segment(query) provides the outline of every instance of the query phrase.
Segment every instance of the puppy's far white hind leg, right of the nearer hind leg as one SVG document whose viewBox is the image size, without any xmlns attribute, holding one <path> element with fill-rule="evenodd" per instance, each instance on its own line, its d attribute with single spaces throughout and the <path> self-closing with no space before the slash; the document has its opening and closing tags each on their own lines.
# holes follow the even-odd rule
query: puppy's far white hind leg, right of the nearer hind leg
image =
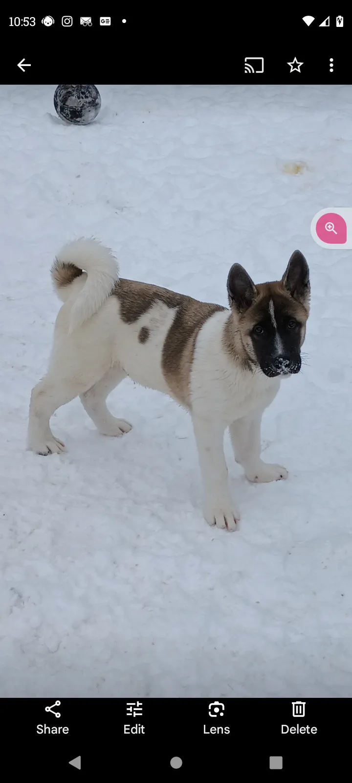
<svg viewBox="0 0 352 783">
<path fill-rule="evenodd" d="M 120 435 L 124 435 L 124 432 L 131 430 L 131 424 L 128 424 L 128 421 L 117 419 L 106 407 L 106 397 L 125 377 L 126 373 L 122 367 L 115 364 L 110 370 L 107 370 L 100 381 L 80 395 L 84 410 L 102 435 L 113 435 L 115 438 L 119 438 Z"/>
</svg>

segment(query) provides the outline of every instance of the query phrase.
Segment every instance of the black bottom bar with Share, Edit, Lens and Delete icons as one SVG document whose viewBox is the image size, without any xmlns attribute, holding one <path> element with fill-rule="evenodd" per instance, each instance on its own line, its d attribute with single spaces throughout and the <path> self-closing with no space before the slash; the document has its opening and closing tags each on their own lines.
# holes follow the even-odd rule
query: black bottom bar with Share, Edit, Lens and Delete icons
<svg viewBox="0 0 352 783">
<path fill-rule="evenodd" d="M 117 774 L 128 765 L 134 774 L 150 771 L 166 780 L 174 770 L 180 776 L 222 774 L 234 752 L 237 773 L 275 769 L 300 775 L 324 768 L 325 774 L 336 774 L 348 756 L 347 702 L 221 696 L 6 699 L 4 740 L 7 746 L 12 742 L 20 712 L 23 752 L 16 769 L 37 776 L 54 759 L 58 776 L 69 767 L 88 777 L 112 768 Z"/>
</svg>

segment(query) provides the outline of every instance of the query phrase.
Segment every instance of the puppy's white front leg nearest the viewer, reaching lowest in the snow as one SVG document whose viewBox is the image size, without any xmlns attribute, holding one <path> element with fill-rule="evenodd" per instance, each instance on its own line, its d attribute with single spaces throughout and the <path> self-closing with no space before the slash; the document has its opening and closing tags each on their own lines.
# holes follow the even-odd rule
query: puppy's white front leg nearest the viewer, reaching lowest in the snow
<svg viewBox="0 0 352 783">
<path fill-rule="evenodd" d="M 236 529 L 239 512 L 228 492 L 228 468 L 224 458 L 225 427 L 210 419 L 192 417 L 203 478 L 203 513 L 209 525 Z"/>
</svg>

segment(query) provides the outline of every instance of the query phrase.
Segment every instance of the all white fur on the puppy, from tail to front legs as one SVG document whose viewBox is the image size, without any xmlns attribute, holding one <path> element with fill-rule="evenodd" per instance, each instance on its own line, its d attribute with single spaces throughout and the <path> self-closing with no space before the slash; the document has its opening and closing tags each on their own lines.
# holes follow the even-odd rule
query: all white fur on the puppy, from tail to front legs
<svg viewBox="0 0 352 783">
<path fill-rule="evenodd" d="M 75 244 L 74 258 L 87 270 L 88 278 L 81 276 L 66 289 L 66 301 L 56 319 L 48 373 L 31 395 L 28 447 L 37 453 L 63 450 L 63 443 L 52 435 L 49 420 L 59 406 L 77 395 L 99 431 L 114 436 L 131 429 L 131 424 L 116 419 L 106 408 L 107 395 L 124 377 L 171 395 L 163 377 L 162 351 L 176 309 L 157 301 L 135 323 L 124 323 L 117 297 L 107 293 L 116 280 L 117 264 L 110 251 L 92 240 L 84 242 L 87 240 Z M 60 260 L 73 263 L 72 251 L 72 245 L 66 247 Z M 98 294 L 89 279 L 100 280 Z M 235 458 L 250 481 L 275 481 L 286 478 L 287 471 L 260 460 L 260 419 L 275 398 L 280 379 L 268 378 L 260 370 L 242 370 L 224 351 L 228 314 L 228 310 L 216 312 L 199 331 L 190 398 L 203 476 L 204 516 L 210 525 L 235 530 L 239 512 L 228 492 L 225 429 L 230 427 Z M 77 324 L 74 329 L 73 323 Z M 138 341 L 142 327 L 150 332 L 145 344 Z"/>
</svg>

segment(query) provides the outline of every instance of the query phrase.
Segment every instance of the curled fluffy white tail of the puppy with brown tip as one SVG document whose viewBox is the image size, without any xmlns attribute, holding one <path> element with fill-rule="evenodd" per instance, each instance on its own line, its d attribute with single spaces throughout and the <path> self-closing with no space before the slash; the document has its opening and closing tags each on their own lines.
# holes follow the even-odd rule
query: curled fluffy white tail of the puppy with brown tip
<svg viewBox="0 0 352 783">
<path fill-rule="evenodd" d="M 59 298 L 66 301 L 70 284 L 83 272 L 85 283 L 72 305 L 70 332 L 94 316 L 113 293 L 119 265 L 113 253 L 97 240 L 77 240 L 63 247 L 52 265 L 52 282 Z"/>
</svg>

